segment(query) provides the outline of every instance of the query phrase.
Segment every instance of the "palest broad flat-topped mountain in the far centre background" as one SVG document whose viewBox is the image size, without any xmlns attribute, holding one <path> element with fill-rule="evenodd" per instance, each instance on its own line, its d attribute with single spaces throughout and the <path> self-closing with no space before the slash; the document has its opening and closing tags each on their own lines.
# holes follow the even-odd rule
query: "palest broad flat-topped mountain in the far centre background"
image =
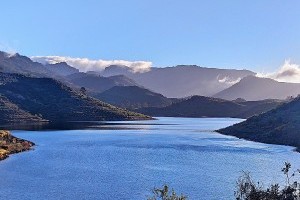
<svg viewBox="0 0 300 200">
<path fill-rule="evenodd" d="M 151 91 L 166 97 L 182 98 L 192 95 L 211 96 L 239 81 L 254 75 L 248 70 L 204 68 L 195 65 L 151 68 L 150 71 L 134 73 L 126 66 L 109 66 L 103 76 L 125 75 Z"/>
</svg>

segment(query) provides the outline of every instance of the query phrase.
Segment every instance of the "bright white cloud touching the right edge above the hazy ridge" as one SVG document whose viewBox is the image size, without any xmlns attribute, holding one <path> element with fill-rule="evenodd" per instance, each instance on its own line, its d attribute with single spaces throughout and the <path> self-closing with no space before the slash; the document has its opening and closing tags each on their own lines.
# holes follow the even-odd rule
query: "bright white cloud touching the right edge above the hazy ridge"
<svg viewBox="0 0 300 200">
<path fill-rule="evenodd" d="M 281 82 L 300 83 L 300 65 L 285 60 L 284 64 L 275 72 L 258 73 L 258 77 L 272 78 Z"/>
</svg>

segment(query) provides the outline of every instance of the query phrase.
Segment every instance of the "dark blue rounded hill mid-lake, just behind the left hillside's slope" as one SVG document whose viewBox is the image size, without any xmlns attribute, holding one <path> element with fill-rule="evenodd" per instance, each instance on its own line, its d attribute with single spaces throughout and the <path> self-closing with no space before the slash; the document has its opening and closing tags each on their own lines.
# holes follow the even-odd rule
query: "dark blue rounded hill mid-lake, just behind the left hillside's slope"
<svg viewBox="0 0 300 200">
<path fill-rule="evenodd" d="M 142 107 L 164 107 L 173 102 L 172 99 L 138 86 L 115 86 L 95 97 L 131 110 Z"/>
</svg>

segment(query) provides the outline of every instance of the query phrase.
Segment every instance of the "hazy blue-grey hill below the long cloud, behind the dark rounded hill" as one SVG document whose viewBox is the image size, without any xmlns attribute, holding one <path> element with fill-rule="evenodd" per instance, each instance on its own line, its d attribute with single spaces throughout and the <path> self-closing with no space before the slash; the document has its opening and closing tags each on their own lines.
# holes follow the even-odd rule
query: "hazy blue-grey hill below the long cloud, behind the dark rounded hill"
<svg viewBox="0 0 300 200">
<path fill-rule="evenodd" d="M 76 73 L 66 77 L 74 85 L 85 87 L 92 92 L 103 92 L 114 86 L 133 86 L 136 83 L 124 75 L 103 77 L 91 73 Z"/>
</svg>

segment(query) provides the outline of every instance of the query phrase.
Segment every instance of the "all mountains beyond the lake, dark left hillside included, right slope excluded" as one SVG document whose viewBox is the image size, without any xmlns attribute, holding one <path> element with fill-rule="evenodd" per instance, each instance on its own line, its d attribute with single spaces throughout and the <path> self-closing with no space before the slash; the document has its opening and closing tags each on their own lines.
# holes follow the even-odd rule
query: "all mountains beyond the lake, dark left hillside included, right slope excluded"
<svg viewBox="0 0 300 200">
<path fill-rule="evenodd" d="M 273 99 L 300 91 L 300 84 L 258 78 L 248 70 L 179 65 L 135 73 L 113 65 L 102 72 L 84 73 L 65 62 L 40 64 L 5 52 L 0 52 L 0 72 L 0 109 L 10 116 L 7 121 L 147 118 L 131 111 L 152 116 L 248 118 L 282 103 Z"/>
</svg>

